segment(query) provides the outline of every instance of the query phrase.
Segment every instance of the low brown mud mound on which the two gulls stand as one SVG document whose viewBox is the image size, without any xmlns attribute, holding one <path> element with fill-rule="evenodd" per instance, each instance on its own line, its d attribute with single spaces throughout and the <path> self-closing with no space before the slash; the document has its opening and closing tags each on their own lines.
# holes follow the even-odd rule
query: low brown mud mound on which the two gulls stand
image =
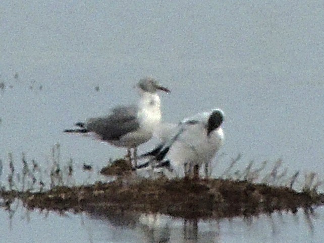
<svg viewBox="0 0 324 243">
<path fill-rule="evenodd" d="M 6 198 L 6 192 L 3 192 Z M 8 192 L 8 195 L 10 193 Z M 13 196 L 13 194 L 11 194 Z M 117 179 L 81 187 L 55 187 L 47 192 L 21 192 L 29 209 L 74 212 L 136 211 L 183 218 L 250 216 L 274 211 L 297 212 L 324 204 L 324 195 L 286 187 L 231 179 L 130 181 Z"/>
</svg>

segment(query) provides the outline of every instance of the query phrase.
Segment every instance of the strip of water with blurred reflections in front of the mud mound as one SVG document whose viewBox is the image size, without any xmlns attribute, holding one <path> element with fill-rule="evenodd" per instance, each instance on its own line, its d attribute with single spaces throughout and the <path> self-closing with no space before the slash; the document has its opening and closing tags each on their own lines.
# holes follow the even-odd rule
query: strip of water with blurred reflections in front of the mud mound
<svg viewBox="0 0 324 243">
<path fill-rule="evenodd" d="M 37 228 L 37 234 L 33 237 L 42 238 L 42 234 L 47 235 L 48 232 L 66 235 L 67 228 L 73 225 L 74 231 L 70 233 L 73 238 L 71 242 L 78 243 L 98 241 L 286 242 L 294 241 L 296 238 L 299 241 L 320 242 L 318 239 L 323 236 L 321 229 L 323 220 L 318 215 L 324 213 L 324 207 L 315 211 L 299 210 L 296 214 L 276 212 L 245 218 L 203 220 L 175 218 L 164 214 L 116 211 L 108 208 L 104 214 L 102 209 L 96 211 L 95 208 L 91 212 L 75 215 L 68 212 L 51 213 L 47 210 L 38 213 L 21 206 L 22 203 L 18 200 L 12 204 L 1 202 L 3 218 L 6 218 L 4 213 L 7 212 L 8 220 L 3 220 L 0 230 L 7 228 L 8 234 L 15 235 L 26 230 L 26 227 Z M 75 220 L 78 218 L 81 219 L 81 227 L 80 220 Z M 57 223 L 51 224 L 53 221 Z M 80 236 L 82 236 L 81 241 L 78 240 Z M 55 238 L 49 240 L 55 241 Z"/>
</svg>

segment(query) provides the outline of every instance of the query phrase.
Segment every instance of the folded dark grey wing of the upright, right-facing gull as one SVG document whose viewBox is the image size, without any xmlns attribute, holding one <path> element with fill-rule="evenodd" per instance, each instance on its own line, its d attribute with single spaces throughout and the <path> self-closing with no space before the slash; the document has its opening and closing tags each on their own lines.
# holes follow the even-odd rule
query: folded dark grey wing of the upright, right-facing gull
<svg viewBox="0 0 324 243">
<path fill-rule="evenodd" d="M 118 140 L 139 128 L 137 110 L 135 105 L 118 106 L 107 116 L 90 118 L 86 124 L 87 130 L 98 134 L 102 140 Z"/>
</svg>

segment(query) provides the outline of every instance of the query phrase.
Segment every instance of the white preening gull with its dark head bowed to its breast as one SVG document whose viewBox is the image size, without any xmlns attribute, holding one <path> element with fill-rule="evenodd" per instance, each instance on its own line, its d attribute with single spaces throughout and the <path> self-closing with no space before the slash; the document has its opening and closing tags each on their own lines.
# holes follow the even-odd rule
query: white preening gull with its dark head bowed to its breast
<svg viewBox="0 0 324 243">
<path fill-rule="evenodd" d="M 148 165 L 153 168 L 168 167 L 176 170 L 177 175 L 197 178 L 203 164 L 205 176 L 208 177 L 211 160 L 224 141 L 223 120 L 221 109 L 212 109 L 182 120 L 168 140 L 140 156 L 151 159 L 137 166 L 137 169 Z"/>
</svg>

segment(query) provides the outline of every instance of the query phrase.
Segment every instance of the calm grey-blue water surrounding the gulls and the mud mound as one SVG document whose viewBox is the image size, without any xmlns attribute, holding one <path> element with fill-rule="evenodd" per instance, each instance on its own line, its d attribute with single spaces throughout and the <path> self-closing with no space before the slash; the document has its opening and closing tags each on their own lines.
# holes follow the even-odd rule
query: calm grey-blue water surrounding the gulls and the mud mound
<svg viewBox="0 0 324 243">
<path fill-rule="evenodd" d="M 166 121 L 213 107 L 225 111 L 226 143 L 215 176 L 242 153 L 235 169 L 251 160 L 257 166 L 281 158 L 291 173 L 316 171 L 322 178 L 322 10 L 319 3 L 306 1 L 2 3 L 0 158 L 8 161 L 12 152 L 19 167 L 25 152 L 27 159 L 48 169 L 50 150 L 60 143 L 62 162 L 72 158 L 75 166 L 89 163 L 98 170 L 125 150 L 62 131 L 75 121 L 136 101 L 133 86 L 152 75 L 172 90 L 161 95 Z M 75 176 L 80 183 L 88 179 L 82 173 Z M 322 209 L 317 213 L 322 215 Z M 7 212 L 1 214 L 8 218 Z M 105 218 L 67 215 L 50 212 L 46 218 L 32 212 L 28 222 L 19 208 L 12 230 L 9 219 L 0 228 L 7 242 L 151 237 L 138 220 L 120 227 Z M 164 220 L 170 238 L 183 239 L 183 220 Z M 315 218 L 310 230 L 302 213 L 209 223 L 198 222 L 202 242 L 209 237 L 216 242 L 318 242 L 324 236 L 316 230 L 323 220 Z"/>
</svg>

